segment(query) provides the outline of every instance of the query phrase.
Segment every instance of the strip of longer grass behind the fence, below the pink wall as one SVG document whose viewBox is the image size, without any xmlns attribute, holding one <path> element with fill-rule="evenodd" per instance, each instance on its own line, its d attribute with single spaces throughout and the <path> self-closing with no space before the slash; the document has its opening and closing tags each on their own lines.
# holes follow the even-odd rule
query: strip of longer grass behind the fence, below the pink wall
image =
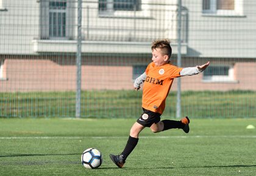
<svg viewBox="0 0 256 176">
<path fill-rule="evenodd" d="M 81 117 L 130 118 L 141 114 L 142 91 L 101 90 L 81 93 Z M 170 92 L 163 117 L 176 117 L 176 92 Z M 256 92 L 182 92 L 182 116 L 255 117 Z M 75 92 L 0 93 L 0 117 L 74 117 Z"/>
</svg>

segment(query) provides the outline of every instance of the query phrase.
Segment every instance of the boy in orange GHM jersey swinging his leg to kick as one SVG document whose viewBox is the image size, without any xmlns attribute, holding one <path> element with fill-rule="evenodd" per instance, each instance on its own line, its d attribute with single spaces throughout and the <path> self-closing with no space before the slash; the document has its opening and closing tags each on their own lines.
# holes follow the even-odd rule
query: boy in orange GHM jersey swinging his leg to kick
<svg viewBox="0 0 256 176">
<path fill-rule="evenodd" d="M 142 97 L 143 114 L 130 129 L 130 136 L 124 151 L 120 155 L 110 154 L 111 160 L 119 168 L 123 168 L 126 158 L 138 143 L 138 135 L 145 127 L 150 127 L 154 133 L 173 128 L 183 129 L 185 133 L 190 131 L 188 126 L 190 120 L 188 117 L 184 117 L 180 121 L 160 121 L 160 116 L 165 109 L 165 100 L 174 78 L 201 73 L 210 63 L 187 68 L 173 66 L 169 62 L 172 53 L 169 43 L 167 39 L 152 42 L 152 63 L 148 65 L 146 71 L 133 84 L 134 89 L 139 90 L 140 84 L 144 83 Z"/>
</svg>

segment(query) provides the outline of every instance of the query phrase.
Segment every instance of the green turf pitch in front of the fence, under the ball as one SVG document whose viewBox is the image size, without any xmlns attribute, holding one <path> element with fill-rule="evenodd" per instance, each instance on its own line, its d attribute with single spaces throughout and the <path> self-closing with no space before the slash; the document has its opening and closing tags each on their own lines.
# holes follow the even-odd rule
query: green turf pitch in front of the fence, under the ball
<svg viewBox="0 0 256 176">
<path fill-rule="evenodd" d="M 108 154 L 123 151 L 134 119 L 0 119 L 1 175 L 255 175 L 254 119 L 191 119 L 189 134 L 172 129 L 141 132 L 119 169 Z M 80 155 L 96 147 L 99 169 Z"/>
</svg>

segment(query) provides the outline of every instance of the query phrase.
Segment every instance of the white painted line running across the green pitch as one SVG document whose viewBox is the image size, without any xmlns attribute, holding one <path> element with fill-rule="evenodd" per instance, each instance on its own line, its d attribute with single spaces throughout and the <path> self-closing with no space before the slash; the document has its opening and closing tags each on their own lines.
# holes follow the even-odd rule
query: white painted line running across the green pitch
<svg viewBox="0 0 256 176">
<path fill-rule="evenodd" d="M 34 140 L 48 140 L 48 139 L 121 139 L 127 137 L 0 137 L 0 140 L 24 140 L 24 139 L 34 139 Z M 139 138 L 256 138 L 256 135 L 194 135 L 194 136 L 141 136 Z"/>
</svg>

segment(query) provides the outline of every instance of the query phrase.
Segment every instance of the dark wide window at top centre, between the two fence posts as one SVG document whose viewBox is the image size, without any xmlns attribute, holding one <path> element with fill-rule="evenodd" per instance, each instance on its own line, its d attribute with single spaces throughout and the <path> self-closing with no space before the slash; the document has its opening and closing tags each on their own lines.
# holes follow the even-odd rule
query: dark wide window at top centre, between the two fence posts
<svg viewBox="0 0 256 176">
<path fill-rule="evenodd" d="M 141 10 L 139 0 L 99 0 L 99 13 L 111 14 L 117 10 L 138 11 Z"/>
</svg>

